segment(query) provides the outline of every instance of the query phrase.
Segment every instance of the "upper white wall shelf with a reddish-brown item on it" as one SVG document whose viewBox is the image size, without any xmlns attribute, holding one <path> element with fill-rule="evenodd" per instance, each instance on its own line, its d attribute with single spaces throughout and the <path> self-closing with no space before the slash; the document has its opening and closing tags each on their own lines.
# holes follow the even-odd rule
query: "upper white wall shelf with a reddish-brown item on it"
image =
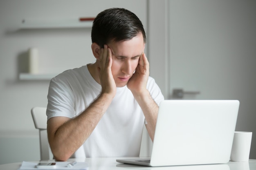
<svg viewBox="0 0 256 170">
<path fill-rule="evenodd" d="M 94 18 L 51 19 L 51 20 L 24 19 L 22 20 L 22 23 L 20 24 L 19 29 L 91 28 L 93 19 Z"/>
</svg>

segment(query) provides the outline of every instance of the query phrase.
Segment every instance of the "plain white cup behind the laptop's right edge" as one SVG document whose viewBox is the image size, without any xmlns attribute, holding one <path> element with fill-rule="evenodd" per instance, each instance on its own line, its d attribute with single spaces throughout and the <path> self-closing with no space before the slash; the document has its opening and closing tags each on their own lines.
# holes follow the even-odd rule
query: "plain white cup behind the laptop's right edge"
<svg viewBox="0 0 256 170">
<path fill-rule="evenodd" d="M 235 162 L 249 161 L 252 132 L 235 132 L 230 160 Z"/>
</svg>

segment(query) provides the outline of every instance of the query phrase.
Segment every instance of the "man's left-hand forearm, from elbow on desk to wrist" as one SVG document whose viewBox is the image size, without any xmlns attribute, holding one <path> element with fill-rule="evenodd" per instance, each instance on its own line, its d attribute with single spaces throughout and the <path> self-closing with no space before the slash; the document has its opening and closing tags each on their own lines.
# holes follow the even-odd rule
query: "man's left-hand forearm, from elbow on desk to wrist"
<svg viewBox="0 0 256 170">
<path fill-rule="evenodd" d="M 90 136 L 106 112 L 112 97 L 101 94 L 86 110 L 53 130 L 48 130 L 49 144 L 54 157 L 66 161 Z M 51 119 L 49 119 L 50 121 Z M 49 134 L 50 133 L 50 134 Z"/>
</svg>

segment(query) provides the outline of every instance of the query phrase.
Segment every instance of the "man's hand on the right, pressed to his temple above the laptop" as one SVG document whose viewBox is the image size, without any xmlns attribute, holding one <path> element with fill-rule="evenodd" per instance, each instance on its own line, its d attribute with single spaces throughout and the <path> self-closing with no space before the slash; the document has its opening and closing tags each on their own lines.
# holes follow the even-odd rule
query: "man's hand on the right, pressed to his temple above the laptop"
<svg viewBox="0 0 256 170">
<path fill-rule="evenodd" d="M 149 62 L 144 53 L 139 57 L 139 63 L 135 73 L 130 78 L 127 87 L 133 95 L 139 95 L 146 90 L 149 76 Z"/>
</svg>

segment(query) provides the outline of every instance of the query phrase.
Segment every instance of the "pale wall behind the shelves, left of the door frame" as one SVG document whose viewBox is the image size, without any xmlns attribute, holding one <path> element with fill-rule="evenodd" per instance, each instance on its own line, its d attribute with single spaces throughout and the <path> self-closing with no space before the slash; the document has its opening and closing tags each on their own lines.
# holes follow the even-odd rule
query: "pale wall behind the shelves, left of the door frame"
<svg viewBox="0 0 256 170">
<path fill-rule="evenodd" d="M 147 25 L 146 0 L 0 0 L 0 164 L 40 159 L 30 110 L 47 106 L 49 80 L 18 79 L 27 70 L 27 50 L 38 48 L 40 73 L 94 62 L 90 29 L 19 30 L 22 20 L 95 17 L 111 7 L 133 11 Z"/>
</svg>

